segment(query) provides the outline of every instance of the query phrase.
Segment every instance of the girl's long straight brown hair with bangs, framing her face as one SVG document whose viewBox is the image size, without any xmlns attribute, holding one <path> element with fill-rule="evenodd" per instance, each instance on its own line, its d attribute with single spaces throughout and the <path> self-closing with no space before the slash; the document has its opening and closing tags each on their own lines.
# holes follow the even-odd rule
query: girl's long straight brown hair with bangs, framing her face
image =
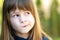
<svg viewBox="0 0 60 40">
<path fill-rule="evenodd" d="M 14 29 L 9 22 L 9 13 L 16 8 L 29 10 L 35 18 L 34 28 L 31 30 L 31 40 L 42 40 L 42 35 L 46 36 L 49 40 L 50 37 L 42 30 L 39 15 L 36 5 L 31 0 L 4 0 L 3 4 L 3 21 L 2 21 L 2 40 L 13 40 Z M 33 35 L 33 36 L 32 36 Z"/>
</svg>

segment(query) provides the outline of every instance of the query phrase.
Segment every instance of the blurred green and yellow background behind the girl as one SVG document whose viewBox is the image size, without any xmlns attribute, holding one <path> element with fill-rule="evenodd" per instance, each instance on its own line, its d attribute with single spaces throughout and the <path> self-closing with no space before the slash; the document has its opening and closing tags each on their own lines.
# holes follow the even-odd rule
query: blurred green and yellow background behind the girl
<svg viewBox="0 0 60 40">
<path fill-rule="evenodd" d="M 34 0 L 38 8 L 43 30 L 53 40 L 60 40 L 60 0 Z M 0 0 L 0 35 L 2 27 L 2 5 Z"/>
</svg>

